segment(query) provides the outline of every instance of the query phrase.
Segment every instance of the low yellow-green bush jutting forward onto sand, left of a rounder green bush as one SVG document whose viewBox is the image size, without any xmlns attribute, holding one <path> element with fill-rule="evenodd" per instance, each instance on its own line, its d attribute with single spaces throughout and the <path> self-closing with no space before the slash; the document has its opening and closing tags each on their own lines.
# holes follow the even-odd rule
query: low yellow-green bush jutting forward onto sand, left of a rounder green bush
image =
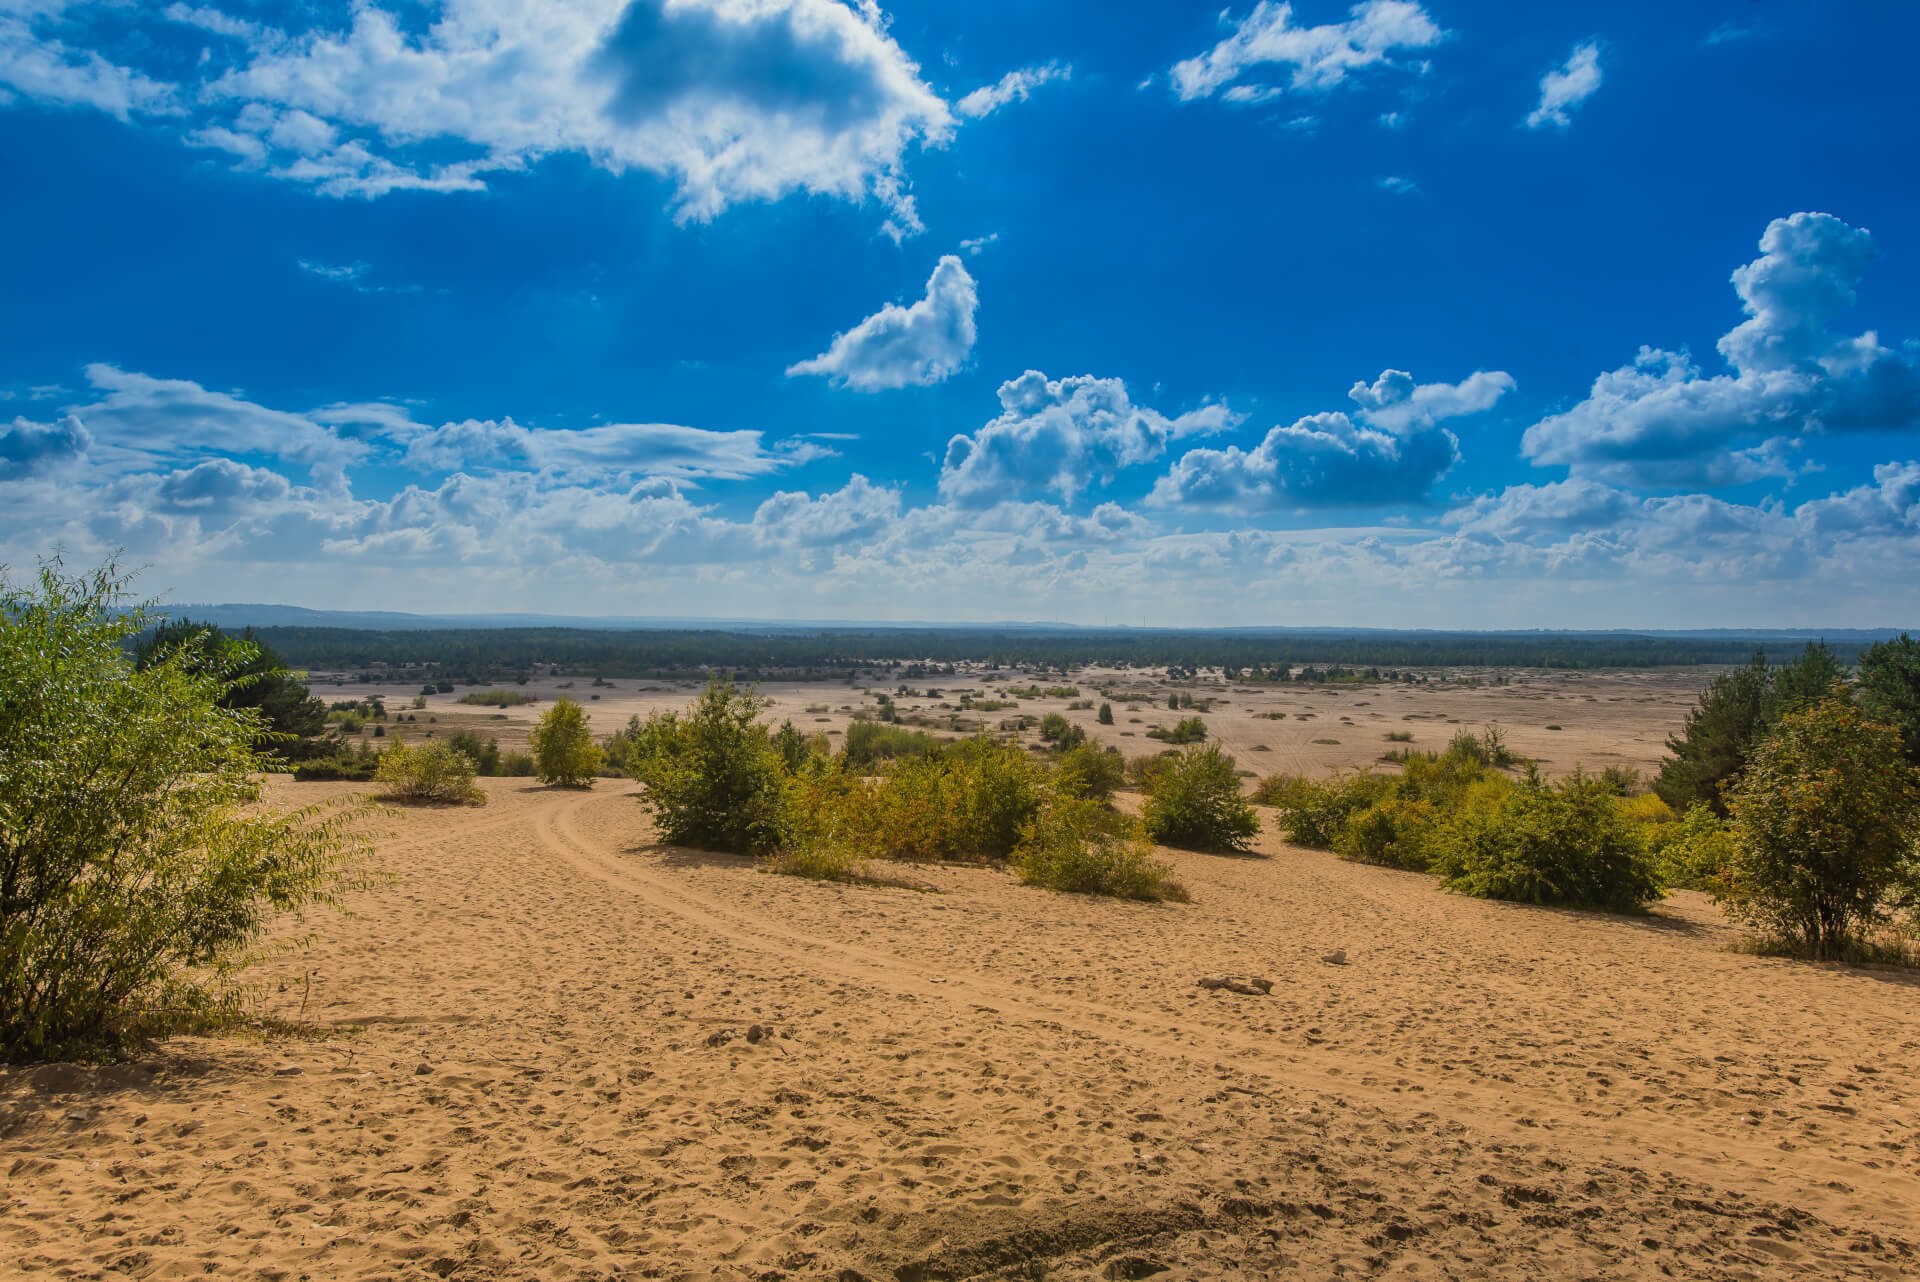
<svg viewBox="0 0 1920 1282">
<path fill-rule="evenodd" d="M 1187 887 L 1173 881 L 1173 866 L 1154 858 L 1140 823 L 1089 798 L 1046 798 L 1020 829 L 1012 864 L 1021 881 L 1050 890 L 1181 904 L 1188 898 Z"/>
</svg>

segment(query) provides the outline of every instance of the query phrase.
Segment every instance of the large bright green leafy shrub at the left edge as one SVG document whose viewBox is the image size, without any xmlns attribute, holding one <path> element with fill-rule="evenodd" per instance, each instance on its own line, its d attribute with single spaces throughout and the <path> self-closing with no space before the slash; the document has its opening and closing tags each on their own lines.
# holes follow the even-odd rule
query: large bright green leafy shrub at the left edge
<svg viewBox="0 0 1920 1282">
<path fill-rule="evenodd" d="M 282 912 L 338 904 L 353 806 L 259 806 L 246 641 L 129 656 L 152 624 L 111 564 L 0 578 L 0 1059 L 111 1054 L 236 1013 Z"/>
</svg>

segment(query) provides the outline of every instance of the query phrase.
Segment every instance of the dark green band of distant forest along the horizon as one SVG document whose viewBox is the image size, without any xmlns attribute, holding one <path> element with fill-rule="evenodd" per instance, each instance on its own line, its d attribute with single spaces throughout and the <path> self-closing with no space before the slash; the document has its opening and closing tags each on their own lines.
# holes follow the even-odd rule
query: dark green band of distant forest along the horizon
<svg viewBox="0 0 1920 1282">
<path fill-rule="evenodd" d="M 996 633 L 987 629 L 603 631 L 588 628 L 357 629 L 259 628 L 296 668 L 313 672 L 405 668 L 438 679 L 493 681 L 557 668 L 570 676 L 697 677 L 708 670 L 755 676 L 843 676 L 881 662 L 989 662 L 1069 670 L 1108 664 L 1154 670 L 1227 668 L 1256 676 L 1284 664 L 1369 668 L 1670 668 L 1741 664 L 1751 637 L 1524 635 L 1524 633 Z M 1799 651 L 1776 641 L 1774 658 Z M 1853 660 L 1860 643 L 1837 643 Z"/>
</svg>

